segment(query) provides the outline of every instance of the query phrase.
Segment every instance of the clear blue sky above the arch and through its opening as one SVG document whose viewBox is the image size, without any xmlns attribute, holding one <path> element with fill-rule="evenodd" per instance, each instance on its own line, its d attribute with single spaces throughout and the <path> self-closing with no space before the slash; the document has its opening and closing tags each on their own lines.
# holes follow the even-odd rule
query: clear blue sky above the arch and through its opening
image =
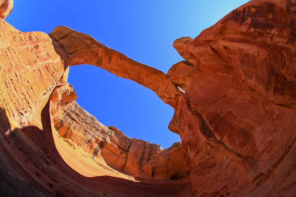
<svg viewBox="0 0 296 197">
<path fill-rule="evenodd" d="M 182 61 L 173 41 L 197 37 L 247 0 L 81 1 L 15 0 L 6 21 L 16 29 L 50 33 L 63 25 L 91 35 L 129 58 L 165 73 Z M 170 147 L 173 109 L 151 90 L 92 65 L 70 67 L 76 100 L 99 122 L 132 138 Z"/>
</svg>

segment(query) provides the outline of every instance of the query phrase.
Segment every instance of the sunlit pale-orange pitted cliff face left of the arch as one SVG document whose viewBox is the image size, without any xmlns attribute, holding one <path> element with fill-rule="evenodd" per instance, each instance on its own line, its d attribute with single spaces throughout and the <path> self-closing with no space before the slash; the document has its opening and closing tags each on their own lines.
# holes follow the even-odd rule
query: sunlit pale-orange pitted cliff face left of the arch
<svg viewBox="0 0 296 197">
<path fill-rule="evenodd" d="M 67 66 L 43 32 L 20 32 L 0 19 L 1 108 L 18 128 L 42 129 L 40 115 Z"/>
</svg>

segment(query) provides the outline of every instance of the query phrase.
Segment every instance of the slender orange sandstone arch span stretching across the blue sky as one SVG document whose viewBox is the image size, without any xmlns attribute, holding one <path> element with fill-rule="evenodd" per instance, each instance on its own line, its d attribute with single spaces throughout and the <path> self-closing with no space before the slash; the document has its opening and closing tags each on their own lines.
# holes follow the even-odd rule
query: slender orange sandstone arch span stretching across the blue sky
<svg viewBox="0 0 296 197">
<path fill-rule="evenodd" d="M 92 64 L 116 76 L 131 79 L 154 91 L 163 102 L 174 108 L 175 94 L 181 93 L 169 77 L 155 68 L 134 61 L 122 53 L 106 47 L 93 37 L 68 27 L 58 26 L 49 34 L 59 43 L 61 56 L 68 66 Z"/>
</svg>

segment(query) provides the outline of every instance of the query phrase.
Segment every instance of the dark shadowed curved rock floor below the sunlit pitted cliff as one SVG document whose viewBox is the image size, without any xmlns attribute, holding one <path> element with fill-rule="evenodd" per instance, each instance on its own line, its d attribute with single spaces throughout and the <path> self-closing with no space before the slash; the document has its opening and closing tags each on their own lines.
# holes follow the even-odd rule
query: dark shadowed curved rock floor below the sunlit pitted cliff
<svg viewBox="0 0 296 197">
<path fill-rule="evenodd" d="M 143 183 L 112 176 L 85 177 L 54 144 L 49 102 L 36 126 L 11 131 L 0 108 L 0 196 L 178 196 L 188 183 Z"/>
</svg>

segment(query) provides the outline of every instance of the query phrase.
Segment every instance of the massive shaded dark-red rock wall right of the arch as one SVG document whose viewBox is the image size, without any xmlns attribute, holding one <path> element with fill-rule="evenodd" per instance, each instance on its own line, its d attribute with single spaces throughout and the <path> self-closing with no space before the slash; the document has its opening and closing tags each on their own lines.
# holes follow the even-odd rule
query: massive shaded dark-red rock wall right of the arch
<svg viewBox="0 0 296 197">
<path fill-rule="evenodd" d="M 198 195 L 293 196 L 295 17 L 292 1 L 250 1 L 174 47 L 168 76 Z M 214 187 L 213 187 L 214 186 Z"/>
</svg>

